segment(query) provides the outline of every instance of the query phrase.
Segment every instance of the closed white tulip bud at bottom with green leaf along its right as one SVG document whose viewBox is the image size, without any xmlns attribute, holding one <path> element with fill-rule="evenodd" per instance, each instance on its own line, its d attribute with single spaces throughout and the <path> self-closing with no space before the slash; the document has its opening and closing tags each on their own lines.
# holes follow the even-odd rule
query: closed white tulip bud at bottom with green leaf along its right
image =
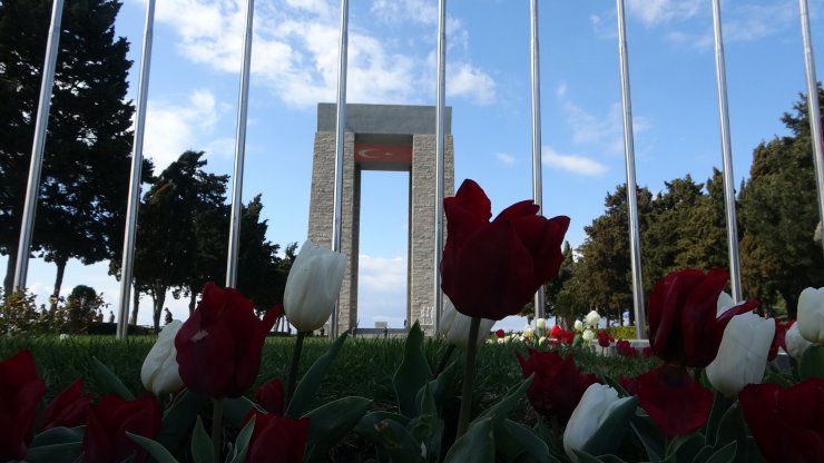
<svg viewBox="0 0 824 463">
<path fill-rule="evenodd" d="M 635 408 L 632 396 L 618 398 L 618 392 L 604 384 L 587 387 L 563 431 L 567 456 L 578 462 L 575 451 L 595 455 L 615 452 Z"/>
</svg>

